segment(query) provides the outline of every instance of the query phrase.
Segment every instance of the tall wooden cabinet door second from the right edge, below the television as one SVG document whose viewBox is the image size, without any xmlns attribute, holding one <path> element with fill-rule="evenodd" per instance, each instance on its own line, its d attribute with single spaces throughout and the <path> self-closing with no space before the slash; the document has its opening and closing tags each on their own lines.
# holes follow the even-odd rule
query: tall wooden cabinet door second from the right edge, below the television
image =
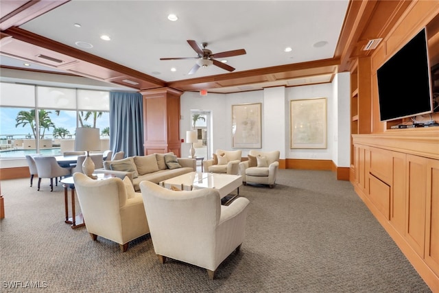
<svg viewBox="0 0 439 293">
<path fill-rule="evenodd" d="M 427 161 L 422 156 L 407 154 L 405 237 L 420 257 L 424 257 L 425 248 Z"/>
</svg>

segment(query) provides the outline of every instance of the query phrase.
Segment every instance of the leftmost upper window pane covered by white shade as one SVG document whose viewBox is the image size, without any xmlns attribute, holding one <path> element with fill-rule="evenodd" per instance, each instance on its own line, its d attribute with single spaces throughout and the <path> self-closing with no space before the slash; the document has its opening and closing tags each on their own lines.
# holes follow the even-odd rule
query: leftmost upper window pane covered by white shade
<svg viewBox="0 0 439 293">
<path fill-rule="evenodd" d="M 35 86 L 0 82 L 0 106 L 34 107 Z"/>
</svg>

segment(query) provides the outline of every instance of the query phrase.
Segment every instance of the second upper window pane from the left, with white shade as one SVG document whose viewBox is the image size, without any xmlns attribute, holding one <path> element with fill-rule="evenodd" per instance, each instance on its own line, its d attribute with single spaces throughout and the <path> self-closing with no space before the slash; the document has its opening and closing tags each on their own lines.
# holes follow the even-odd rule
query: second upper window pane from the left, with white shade
<svg viewBox="0 0 439 293">
<path fill-rule="evenodd" d="M 37 86 L 38 107 L 51 109 L 75 109 L 76 90 Z"/>
</svg>

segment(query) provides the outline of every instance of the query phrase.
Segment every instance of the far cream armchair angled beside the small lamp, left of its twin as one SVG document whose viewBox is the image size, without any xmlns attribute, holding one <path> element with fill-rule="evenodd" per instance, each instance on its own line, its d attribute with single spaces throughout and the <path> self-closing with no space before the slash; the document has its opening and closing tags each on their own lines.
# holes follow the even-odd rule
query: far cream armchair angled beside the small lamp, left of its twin
<svg viewBox="0 0 439 293">
<path fill-rule="evenodd" d="M 239 163 L 241 162 L 241 150 L 217 150 L 213 159 L 206 160 L 203 167 L 208 172 L 239 174 Z"/>
</svg>

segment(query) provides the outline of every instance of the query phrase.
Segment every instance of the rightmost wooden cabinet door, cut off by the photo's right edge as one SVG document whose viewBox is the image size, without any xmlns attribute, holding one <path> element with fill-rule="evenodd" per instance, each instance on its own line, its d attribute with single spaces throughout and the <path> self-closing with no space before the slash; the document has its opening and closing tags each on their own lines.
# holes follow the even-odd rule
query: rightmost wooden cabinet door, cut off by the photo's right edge
<svg viewBox="0 0 439 293">
<path fill-rule="evenodd" d="M 439 160 L 427 162 L 425 262 L 439 276 Z"/>
</svg>

